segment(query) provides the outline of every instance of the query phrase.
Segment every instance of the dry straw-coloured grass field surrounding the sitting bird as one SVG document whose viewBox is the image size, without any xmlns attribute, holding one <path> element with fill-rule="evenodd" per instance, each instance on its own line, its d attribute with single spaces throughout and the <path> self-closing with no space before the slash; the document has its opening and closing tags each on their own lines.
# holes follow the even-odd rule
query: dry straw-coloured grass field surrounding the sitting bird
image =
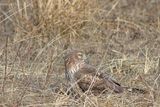
<svg viewBox="0 0 160 107">
<path fill-rule="evenodd" d="M 159 0 L 1 0 L 0 106 L 158 107 Z M 66 95 L 63 54 L 148 94 Z"/>
</svg>

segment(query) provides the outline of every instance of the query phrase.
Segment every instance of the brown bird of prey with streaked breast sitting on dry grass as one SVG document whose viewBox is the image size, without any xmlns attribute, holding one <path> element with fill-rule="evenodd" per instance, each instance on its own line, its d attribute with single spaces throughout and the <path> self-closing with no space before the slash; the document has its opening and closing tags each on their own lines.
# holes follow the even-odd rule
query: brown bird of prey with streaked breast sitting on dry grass
<svg viewBox="0 0 160 107">
<path fill-rule="evenodd" d="M 65 78 L 70 87 L 81 89 L 83 92 L 91 90 L 101 93 L 112 90 L 122 93 L 124 88 L 107 73 L 100 72 L 88 63 L 86 55 L 80 50 L 70 50 L 64 56 Z"/>
</svg>

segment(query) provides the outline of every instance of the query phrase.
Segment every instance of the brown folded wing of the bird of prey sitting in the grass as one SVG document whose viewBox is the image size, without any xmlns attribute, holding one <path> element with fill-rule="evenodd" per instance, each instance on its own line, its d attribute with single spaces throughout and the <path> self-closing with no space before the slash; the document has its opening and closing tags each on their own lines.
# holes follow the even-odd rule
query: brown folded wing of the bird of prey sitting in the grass
<svg viewBox="0 0 160 107">
<path fill-rule="evenodd" d="M 95 67 L 89 64 L 84 64 L 76 72 L 75 78 L 83 91 L 91 89 L 97 92 L 109 88 L 116 93 L 123 92 L 123 87 L 119 83 L 111 79 L 107 74 L 99 73 Z"/>
</svg>

